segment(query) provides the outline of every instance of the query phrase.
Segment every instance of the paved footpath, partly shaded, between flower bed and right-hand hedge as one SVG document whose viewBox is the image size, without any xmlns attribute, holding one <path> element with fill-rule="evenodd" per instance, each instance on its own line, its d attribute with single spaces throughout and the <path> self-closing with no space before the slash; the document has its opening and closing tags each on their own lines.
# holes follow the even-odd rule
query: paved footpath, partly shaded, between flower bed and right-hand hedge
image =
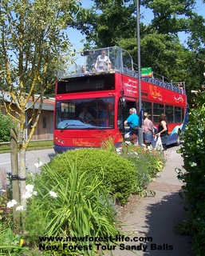
<svg viewBox="0 0 205 256">
<path fill-rule="evenodd" d="M 140 198 L 134 210 L 124 217 L 121 229 L 126 238 L 120 239 L 120 248 L 111 248 L 112 255 L 192 255 L 191 238 L 176 234 L 175 231 L 177 224 L 185 218 L 179 197 L 183 183 L 175 173 L 176 167 L 183 170 L 183 158 L 176 153 L 177 149 L 179 146 L 168 148 L 164 170 L 148 186 L 149 190 L 156 191 L 156 195 Z"/>
</svg>

